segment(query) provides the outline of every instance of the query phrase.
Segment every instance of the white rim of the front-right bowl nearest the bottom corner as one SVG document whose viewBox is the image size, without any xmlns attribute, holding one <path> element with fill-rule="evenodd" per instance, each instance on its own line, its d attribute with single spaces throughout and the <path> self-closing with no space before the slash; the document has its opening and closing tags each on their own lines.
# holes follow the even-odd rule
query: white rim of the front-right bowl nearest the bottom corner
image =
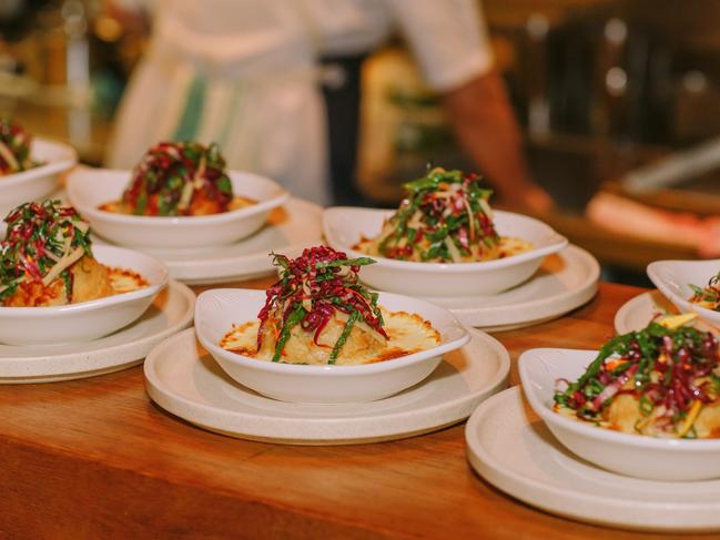
<svg viewBox="0 0 720 540">
<path fill-rule="evenodd" d="M 662 450 L 662 451 L 672 451 L 672 452 L 707 452 L 707 451 L 718 451 L 720 450 L 720 438 L 717 439 L 661 439 L 657 437 L 650 437 L 647 435 L 633 435 L 625 434 L 621 431 L 615 431 L 612 429 L 600 428 L 597 426 L 590 426 L 581 421 L 571 420 L 565 418 L 559 412 L 552 410 L 547 404 L 542 403 L 540 396 L 536 393 L 536 386 L 534 384 L 533 377 L 529 374 L 528 365 L 533 361 L 537 363 L 535 358 L 536 355 L 542 354 L 542 351 L 570 351 L 575 354 L 585 354 L 592 355 L 594 357 L 598 355 L 598 350 L 592 349 L 565 349 L 559 347 L 537 347 L 523 351 L 518 358 L 518 371 L 520 375 L 520 384 L 523 391 L 530 403 L 533 410 L 548 424 L 548 427 L 555 427 L 572 431 L 578 436 L 582 436 L 587 439 L 595 439 L 597 441 L 633 447 L 633 448 L 643 448 L 648 450 Z M 586 364 L 587 365 L 587 364 Z M 547 364 L 546 364 L 547 366 Z M 584 365 L 585 367 L 585 365 Z M 550 375 L 556 375 L 550 373 Z M 557 374 L 561 378 L 561 374 Z"/>
</svg>

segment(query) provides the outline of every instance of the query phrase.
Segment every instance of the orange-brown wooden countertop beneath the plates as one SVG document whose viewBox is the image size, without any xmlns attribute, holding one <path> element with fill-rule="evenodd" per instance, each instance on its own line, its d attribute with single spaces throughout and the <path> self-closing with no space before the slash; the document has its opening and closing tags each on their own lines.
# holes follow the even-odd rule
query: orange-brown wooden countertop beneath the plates
<svg viewBox="0 0 720 540">
<path fill-rule="evenodd" d="M 510 383 L 518 383 L 515 360 L 527 348 L 600 345 L 618 307 L 641 292 L 601 284 L 567 317 L 497 334 L 514 360 Z M 640 536 L 505 496 L 468 466 L 463 430 L 375 445 L 280 446 L 211 434 L 166 414 L 148 398 L 141 367 L 3 386 L 0 538 Z"/>
</svg>

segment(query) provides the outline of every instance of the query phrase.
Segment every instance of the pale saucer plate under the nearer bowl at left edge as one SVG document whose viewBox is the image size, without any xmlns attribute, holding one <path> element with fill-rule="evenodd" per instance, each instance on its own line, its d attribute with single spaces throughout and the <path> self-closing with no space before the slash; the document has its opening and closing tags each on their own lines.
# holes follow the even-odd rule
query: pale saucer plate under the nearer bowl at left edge
<svg viewBox="0 0 720 540">
<path fill-rule="evenodd" d="M 110 336 L 68 345 L 0 345 L 0 384 L 80 379 L 135 366 L 160 342 L 186 328 L 194 308 L 194 293 L 170 282 L 142 317 Z"/>
</svg>

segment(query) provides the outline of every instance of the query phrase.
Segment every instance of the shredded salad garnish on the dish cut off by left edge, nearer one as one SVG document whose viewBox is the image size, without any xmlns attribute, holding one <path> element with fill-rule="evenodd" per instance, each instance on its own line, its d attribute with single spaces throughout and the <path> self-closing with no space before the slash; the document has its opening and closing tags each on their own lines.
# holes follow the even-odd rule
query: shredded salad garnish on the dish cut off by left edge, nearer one
<svg viewBox="0 0 720 540">
<path fill-rule="evenodd" d="M 48 286 L 58 277 L 71 279 L 70 266 L 91 255 L 90 225 L 60 201 L 26 203 L 10 212 L 4 222 L 8 231 L 0 242 L 0 300 L 12 296 L 23 282 Z"/>
</svg>

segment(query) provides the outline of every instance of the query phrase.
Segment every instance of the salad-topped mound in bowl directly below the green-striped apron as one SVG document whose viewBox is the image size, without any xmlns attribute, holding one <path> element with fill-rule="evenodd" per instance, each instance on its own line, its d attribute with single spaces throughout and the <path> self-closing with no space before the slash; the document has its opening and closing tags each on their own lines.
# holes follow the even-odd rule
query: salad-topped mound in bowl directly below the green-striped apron
<svg viewBox="0 0 720 540">
<path fill-rule="evenodd" d="M 232 200 L 217 144 L 162 142 L 133 170 L 122 205 L 126 213 L 176 216 L 226 212 Z"/>
</svg>

